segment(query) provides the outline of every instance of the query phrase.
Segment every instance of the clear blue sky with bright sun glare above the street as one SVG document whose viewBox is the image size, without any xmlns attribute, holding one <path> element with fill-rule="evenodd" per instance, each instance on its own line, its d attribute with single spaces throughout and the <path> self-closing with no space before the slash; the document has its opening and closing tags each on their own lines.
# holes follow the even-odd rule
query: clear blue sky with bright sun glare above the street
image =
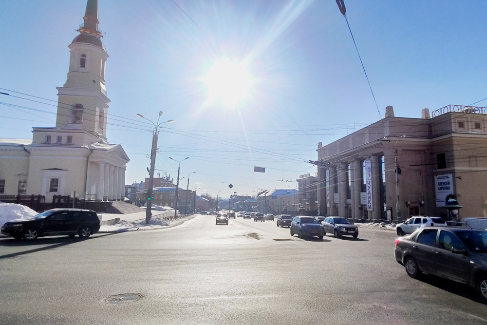
<svg viewBox="0 0 487 325">
<path fill-rule="evenodd" d="M 388 105 L 401 117 L 487 106 L 484 0 L 345 0 L 380 115 L 335 0 L 98 2 L 110 56 L 107 138 L 131 159 L 127 184 L 148 177 L 150 165 L 153 127 L 137 114 L 174 120 L 162 125 L 156 173 L 176 180 L 169 157 L 189 157 L 181 184 L 195 172 L 189 189 L 228 197 L 296 188 L 317 171 L 307 161 L 317 160 L 318 142 L 376 122 Z M 67 46 L 85 8 L 86 0 L 2 3 L 0 92 L 10 96 L 0 95 L 0 138 L 55 125 L 56 86 L 66 82 Z M 226 78 L 235 76 L 232 88 Z"/>
</svg>

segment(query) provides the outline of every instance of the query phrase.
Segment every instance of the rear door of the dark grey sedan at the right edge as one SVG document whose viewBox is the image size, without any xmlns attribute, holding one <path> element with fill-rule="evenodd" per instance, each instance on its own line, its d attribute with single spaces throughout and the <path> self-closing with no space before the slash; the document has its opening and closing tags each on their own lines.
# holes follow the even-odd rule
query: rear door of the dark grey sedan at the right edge
<svg viewBox="0 0 487 325">
<path fill-rule="evenodd" d="M 421 221 L 421 218 L 419 218 Z M 412 243 L 412 253 L 419 268 L 427 273 L 435 272 L 437 229 L 423 229 Z"/>
</svg>

